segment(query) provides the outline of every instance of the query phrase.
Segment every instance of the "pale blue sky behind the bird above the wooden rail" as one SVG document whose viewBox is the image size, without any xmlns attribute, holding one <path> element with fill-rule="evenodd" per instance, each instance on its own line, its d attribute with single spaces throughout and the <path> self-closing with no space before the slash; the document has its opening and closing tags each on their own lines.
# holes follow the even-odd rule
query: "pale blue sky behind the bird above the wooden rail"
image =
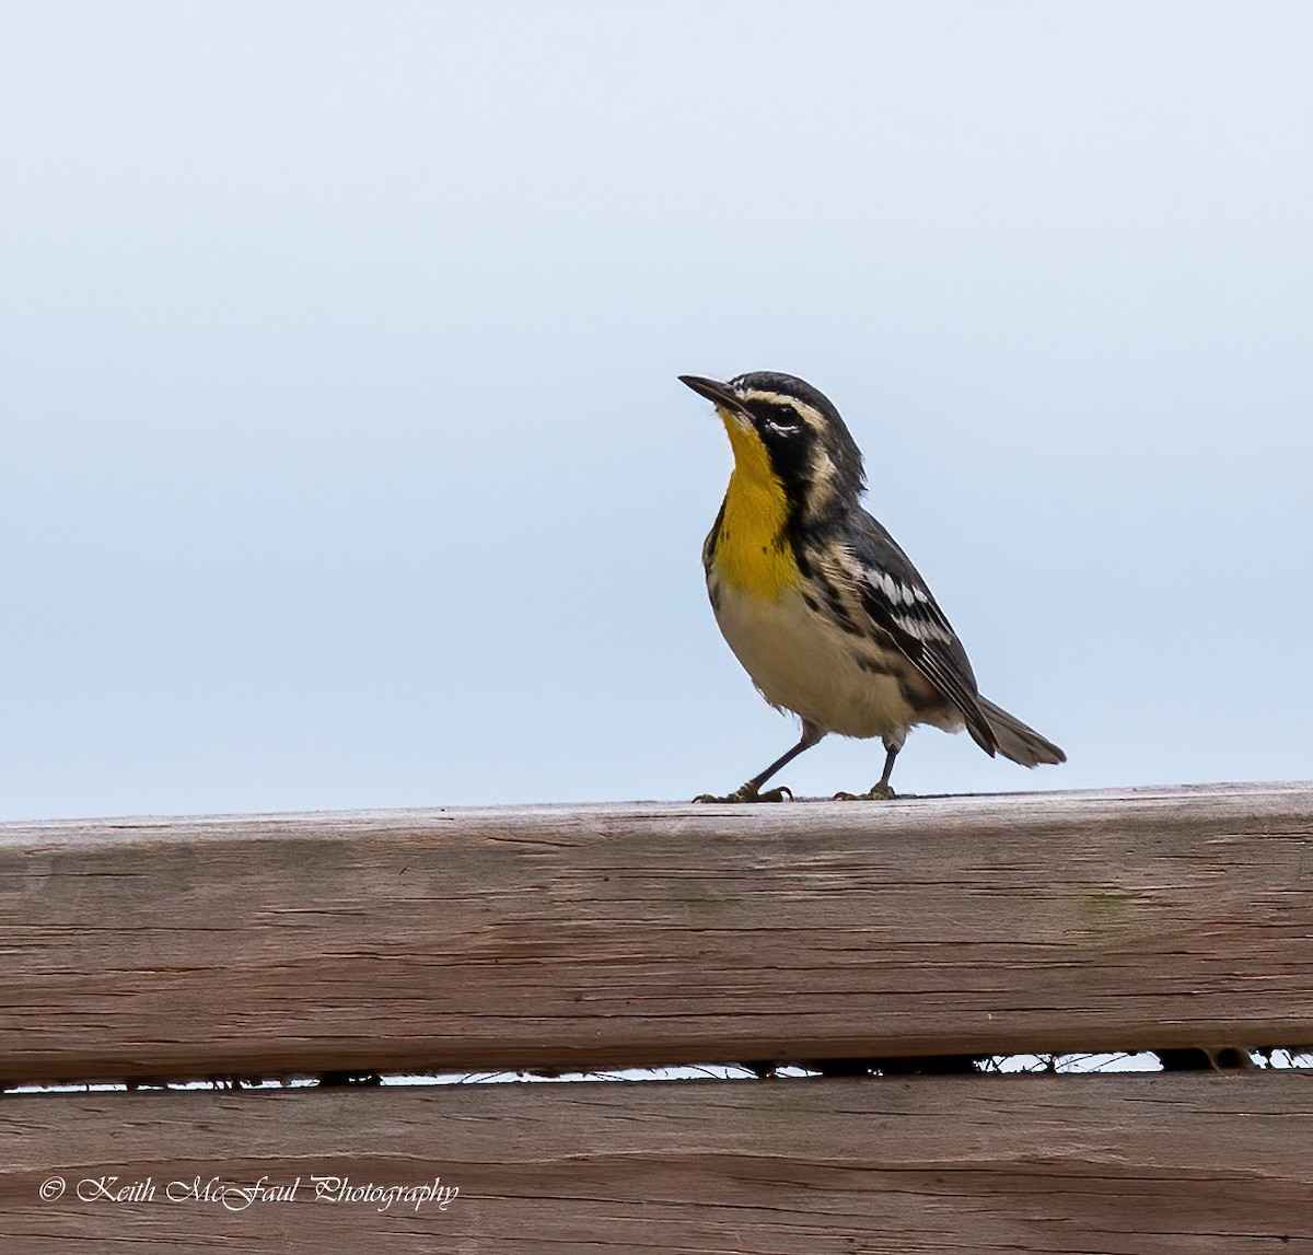
<svg viewBox="0 0 1313 1255">
<path fill-rule="evenodd" d="M 0 818 L 735 786 L 794 733 L 675 375 L 752 369 L 1070 755 L 922 730 L 897 786 L 1309 776 L 1309 47 L 1263 0 L 8 0 Z"/>
</svg>

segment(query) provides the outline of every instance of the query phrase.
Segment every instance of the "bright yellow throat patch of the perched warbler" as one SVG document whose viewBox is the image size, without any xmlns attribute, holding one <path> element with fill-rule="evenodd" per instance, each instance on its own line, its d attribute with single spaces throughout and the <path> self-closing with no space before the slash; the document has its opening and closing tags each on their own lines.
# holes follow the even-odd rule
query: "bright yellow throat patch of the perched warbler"
<svg viewBox="0 0 1313 1255">
<path fill-rule="evenodd" d="M 771 469 L 756 432 L 744 431 L 717 407 L 730 436 L 734 471 L 725 491 L 725 515 L 716 538 L 714 570 L 727 584 L 759 597 L 777 597 L 801 583 L 793 549 L 784 534 L 789 500 Z"/>
</svg>

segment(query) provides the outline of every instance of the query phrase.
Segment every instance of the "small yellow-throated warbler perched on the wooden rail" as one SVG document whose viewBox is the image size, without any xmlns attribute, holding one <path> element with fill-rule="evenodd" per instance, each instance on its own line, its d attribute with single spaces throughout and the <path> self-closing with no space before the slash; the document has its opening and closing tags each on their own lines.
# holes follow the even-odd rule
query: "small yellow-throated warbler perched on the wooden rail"
<svg viewBox="0 0 1313 1255">
<path fill-rule="evenodd" d="M 810 383 L 755 370 L 721 383 L 679 381 L 710 400 L 734 456 L 725 500 L 702 546 L 716 622 L 762 696 L 802 721 L 798 743 L 727 796 L 780 802 L 763 785 L 835 733 L 884 742 L 869 792 L 895 797 L 894 759 L 918 725 L 964 727 L 991 757 L 1023 767 L 1066 755 L 982 697 L 957 633 L 894 538 L 861 504 L 861 452 Z M 882 474 L 897 473 L 882 466 Z"/>
</svg>

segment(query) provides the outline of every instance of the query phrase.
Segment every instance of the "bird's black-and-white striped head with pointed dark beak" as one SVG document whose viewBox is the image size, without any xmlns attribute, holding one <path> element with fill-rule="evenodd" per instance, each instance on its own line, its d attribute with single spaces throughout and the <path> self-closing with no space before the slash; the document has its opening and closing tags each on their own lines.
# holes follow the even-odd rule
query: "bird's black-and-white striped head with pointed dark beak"
<svg viewBox="0 0 1313 1255">
<path fill-rule="evenodd" d="M 856 504 L 861 452 L 839 411 L 810 383 L 769 370 L 727 383 L 691 374 L 679 379 L 714 403 L 735 474 L 773 478 L 796 517 L 822 522 Z"/>
</svg>

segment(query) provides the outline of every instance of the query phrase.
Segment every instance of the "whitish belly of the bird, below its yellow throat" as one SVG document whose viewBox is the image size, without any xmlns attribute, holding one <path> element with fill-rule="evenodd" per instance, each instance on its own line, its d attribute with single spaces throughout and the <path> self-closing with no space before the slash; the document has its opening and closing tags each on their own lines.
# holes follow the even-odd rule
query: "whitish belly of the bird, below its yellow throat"
<svg viewBox="0 0 1313 1255">
<path fill-rule="evenodd" d="M 956 708 L 940 702 L 926 709 L 936 694 L 901 654 L 882 654 L 864 637 L 834 626 L 796 589 L 764 599 L 721 584 L 714 605 L 721 633 L 772 706 L 827 733 L 899 744 L 914 723 L 962 727 Z"/>
</svg>

